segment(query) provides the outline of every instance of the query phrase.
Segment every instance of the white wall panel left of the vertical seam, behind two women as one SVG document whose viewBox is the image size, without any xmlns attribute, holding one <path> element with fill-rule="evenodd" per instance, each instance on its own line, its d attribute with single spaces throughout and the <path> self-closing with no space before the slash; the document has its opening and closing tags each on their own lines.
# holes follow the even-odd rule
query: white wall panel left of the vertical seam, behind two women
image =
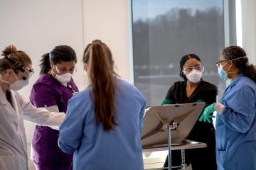
<svg viewBox="0 0 256 170">
<path fill-rule="evenodd" d="M 61 6 L 61 8 L 60 8 Z M 30 84 L 20 92 L 28 98 L 33 82 L 38 78 L 41 55 L 55 45 L 70 45 L 82 56 L 82 8 L 80 0 L 22 0 L 0 2 L 0 48 L 14 44 L 28 53 L 36 73 Z M 82 67 L 79 60 L 75 82 L 82 89 Z M 33 135 L 33 124 L 26 123 L 28 142 Z"/>
</svg>

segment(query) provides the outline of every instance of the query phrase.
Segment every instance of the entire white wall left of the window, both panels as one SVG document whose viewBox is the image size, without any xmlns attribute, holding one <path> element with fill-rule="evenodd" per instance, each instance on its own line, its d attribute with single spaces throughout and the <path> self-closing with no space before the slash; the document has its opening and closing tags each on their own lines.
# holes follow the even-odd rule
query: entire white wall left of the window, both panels
<svg viewBox="0 0 256 170">
<path fill-rule="evenodd" d="M 117 73 L 131 80 L 128 36 L 128 1 L 119 0 L 21 0 L 0 1 L 0 49 L 14 44 L 28 53 L 36 73 L 20 91 L 28 98 L 38 78 L 41 55 L 55 45 L 70 45 L 78 55 L 75 83 L 84 89 L 82 52 L 95 39 L 110 46 Z M 26 123 L 28 142 L 32 124 Z"/>
</svg>

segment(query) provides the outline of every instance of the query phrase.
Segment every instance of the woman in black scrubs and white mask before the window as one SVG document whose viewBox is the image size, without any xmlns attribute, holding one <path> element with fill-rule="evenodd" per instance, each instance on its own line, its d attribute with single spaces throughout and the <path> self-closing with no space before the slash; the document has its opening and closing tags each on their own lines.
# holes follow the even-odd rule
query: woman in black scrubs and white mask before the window
<svg viewBox="0 0 256 170">
<path fill-rule="evenodd" d="M 217 88 L 201 79 L 203 66 L 197 55 L 189 54 L 181 58 L 180 76 L 184 81 L 176 81 L 161 102 L 164 104 L 205 102 L 206 106 L 216 101 Z M 206 107 L 205 106 L 205 107 Z M 203 149 L 186 149 L 186 164 L 192 164 L 193 170 L 216 170 L 215 129 L 213 123 L 196 121 L 187 139 L 207 144 Z M 181 150 L 171 152 L 172 166 L 181 166 Z M 168 167 L 168 157 L 164 167 Z"/>
</svg>

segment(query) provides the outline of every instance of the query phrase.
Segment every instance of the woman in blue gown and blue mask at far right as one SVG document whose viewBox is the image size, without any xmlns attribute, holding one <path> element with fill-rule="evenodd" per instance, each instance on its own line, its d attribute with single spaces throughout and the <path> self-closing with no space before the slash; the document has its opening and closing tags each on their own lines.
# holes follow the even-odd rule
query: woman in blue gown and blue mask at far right
<svg viewBox="0 0 256 170">
<path fill-rule="evenodd" d="M 231 79 L 220 103 L 208 106 L 203 113 L 217 111 L 216 157 L 220 170 L 256 169 L 256 69 L 248 64 L 245 50 L 230 46 L 220 53 L 218 73 Z M 205 119 L 205 120 L 206 120 Z"/>
</svg>

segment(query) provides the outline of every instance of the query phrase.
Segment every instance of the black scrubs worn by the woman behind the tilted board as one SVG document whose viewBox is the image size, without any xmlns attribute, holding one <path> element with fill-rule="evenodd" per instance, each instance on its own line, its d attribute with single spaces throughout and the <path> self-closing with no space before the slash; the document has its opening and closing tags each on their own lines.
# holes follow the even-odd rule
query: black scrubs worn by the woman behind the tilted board
<svg viewBox="0 0 256 170">
<path fill-rule="evenodd" d="M 177 81 L 169 89 L 161 104 L 205 102 L 206 106 L 216 101 L 217 88 L 215 85 L 201 80 L 191 96 L 186 96 L 186 81 Z M 202 112 L 203 113 L 203 112 Z M 192 164 L 193 170 L 217 169 L 215 157 L 215 129 L 213 123 L 197 120 L 187 139 L 207 144 L 206 148 L 186 149 L 186 164 Z M 172 166 L 181 165 L 181 151 L 171 151 Z M 168 158 L 164 164 L 168 166 Z"/>
</svg>

